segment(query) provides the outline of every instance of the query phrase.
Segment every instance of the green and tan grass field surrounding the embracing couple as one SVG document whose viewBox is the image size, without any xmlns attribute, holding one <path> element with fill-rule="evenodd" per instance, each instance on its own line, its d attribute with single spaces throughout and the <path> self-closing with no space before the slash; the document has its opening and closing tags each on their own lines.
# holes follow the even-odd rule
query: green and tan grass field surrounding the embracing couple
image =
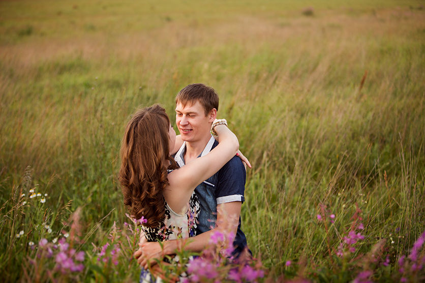
<svg viewBox="0 0 425 283">
<path fill-rule="evenodd" d="M 112 267 L 92 246 L 127 231 L 120 139 L 201 82 L 253 164 L 242 230 L 264 280 L 424 280 L 424 5 L 2 1 L 3 278 L 137 281 L 130 246 Z M 66 233 L 86 257 L 65 276 L 39 241 Z"/>
</svg>

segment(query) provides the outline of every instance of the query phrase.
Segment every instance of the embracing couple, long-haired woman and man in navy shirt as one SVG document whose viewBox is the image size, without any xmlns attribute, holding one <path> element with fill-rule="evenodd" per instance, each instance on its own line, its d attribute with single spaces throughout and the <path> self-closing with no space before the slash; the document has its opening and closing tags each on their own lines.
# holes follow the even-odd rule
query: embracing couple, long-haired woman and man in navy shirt
<svg viewBox="0 0 425 283">
<path fill-rule="evenodd" d="M 216 119 L 217 92 L 191 84 L 180 90 L 175 103 L 179 136 L 165 109 L 153 105 L 133 115 L 122 141 L 124 204 L 143 219 L 140 248 L 134 253 L 142 267 L 141 282 L 154 281 L 150 272 L 160 274 L 156 260 L 182 247 L 200 252 L 217 231 L 234 235 L 234 257 L 250 253 L 239 214 L 246 180 L 242 161 L 251 166 L 227 121 Z"/>
</svg>

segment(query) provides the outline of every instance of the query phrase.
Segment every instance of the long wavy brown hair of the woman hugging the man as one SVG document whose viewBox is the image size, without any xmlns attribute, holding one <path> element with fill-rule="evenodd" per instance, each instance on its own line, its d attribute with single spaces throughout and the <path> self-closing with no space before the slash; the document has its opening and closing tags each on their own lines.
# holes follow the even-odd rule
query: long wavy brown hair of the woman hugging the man
<svg viewBox="0 0 425 283">
<path fill-rule="evenodd" d="M 155 104 L 136 111 L 127 124 L 121 146 L 119 182 L 124 204 L 136 219 L 147 219 L 144 226 L 157 228 L 165 214 L 163 191 L 168 185 L 168 169 L 177 168 L 170 156 L 170 120 L 165 109 Z"/>
</svg>

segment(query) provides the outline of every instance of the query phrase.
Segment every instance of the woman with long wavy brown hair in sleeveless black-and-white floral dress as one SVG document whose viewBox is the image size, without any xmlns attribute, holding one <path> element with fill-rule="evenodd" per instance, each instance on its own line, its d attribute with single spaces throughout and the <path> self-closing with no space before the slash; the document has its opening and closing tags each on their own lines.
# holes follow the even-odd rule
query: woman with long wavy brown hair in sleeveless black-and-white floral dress
<svg viewBox="0 0 425 283">
<path fill-rule="evenodd" d="M 144 219 L 142 230 L 148 241 L 195 236 L 199 202 L 194 189 L 219 171 L 239 147 L 226 125 L 214 123 L 213 129 L 219 135 L 218 146 L 177 169 L 171 153 L 181 141 L 176 145 L 164 108 L 153 105 L 138 110 L 128 123 L 119 180 L 124 204 L 136 219 Z"/>
</svg>

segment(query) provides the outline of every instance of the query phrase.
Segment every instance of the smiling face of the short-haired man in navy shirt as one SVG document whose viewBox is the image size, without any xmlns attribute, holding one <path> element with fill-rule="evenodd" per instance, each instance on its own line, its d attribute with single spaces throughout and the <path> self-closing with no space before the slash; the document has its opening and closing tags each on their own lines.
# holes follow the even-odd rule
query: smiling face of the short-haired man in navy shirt
<svg viewBox="0 0 425 283">
<path fill-rule="evenodd" d="M 215 115 L 205 116 L 204 108 L 199 101 L 192 106 L 187 104 L 186 107 L 177 103 L 175 113 L 175 122 L 181 139 L 187 142 L 197 142 L 206 137 L 209 138 L 209 130 Z"/>
</svg>

